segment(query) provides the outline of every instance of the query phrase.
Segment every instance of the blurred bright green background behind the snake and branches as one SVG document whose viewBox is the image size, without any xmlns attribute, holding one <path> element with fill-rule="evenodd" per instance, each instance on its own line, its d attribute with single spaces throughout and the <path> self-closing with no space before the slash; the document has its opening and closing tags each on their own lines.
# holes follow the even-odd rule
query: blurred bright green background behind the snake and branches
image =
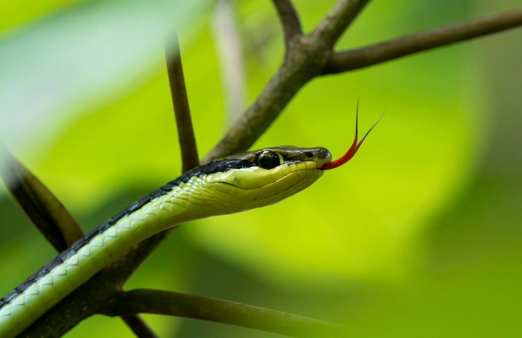
<svg viewBox="0 0 522 338">
<path fill-rule="evenodd" d="M 334 4 L 294 2 L 307 31 Z M 373 1 L 338 47 L 516 2 Z M 203 155 L 281 62 L 270 1 L 0 2 L 0 137 L 85 231 L 180 174 L 162 48 L 173 23 Z M 353 337 L 521 336 L 521 41 L 514 30 L 313 80 L 254 148 L 339 156 L 360 97 L 361 129 L 387 113 L 356 158 L 275 206 L 179 227 L 127 287 L 332 320 Z M 0 294 L 53 256 L 0 184 Z M 162 337 L 279 337 L 145 318 Z M 132 334 L 102 316 L 68 334 L 102 336 Z"/>
</svg>

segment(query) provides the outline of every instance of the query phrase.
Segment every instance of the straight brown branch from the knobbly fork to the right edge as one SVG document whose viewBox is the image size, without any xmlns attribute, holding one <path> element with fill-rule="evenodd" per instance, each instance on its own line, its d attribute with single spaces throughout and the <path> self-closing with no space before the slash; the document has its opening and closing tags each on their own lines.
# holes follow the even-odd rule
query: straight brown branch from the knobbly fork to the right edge
<svg viewBox="0 0 522 338">
<path fill-rule="evenodd" d="M 383 63 L 420 51 L 490 35 L 521 25 L 522 10 L 509 11 L 487 18 L 418 32 L 360 49 L 341 51 L 332 55 L 332 59 L 324 68 L 324 74 L 341 73 L 368 67 L 368 65 Z"/>
</svg>

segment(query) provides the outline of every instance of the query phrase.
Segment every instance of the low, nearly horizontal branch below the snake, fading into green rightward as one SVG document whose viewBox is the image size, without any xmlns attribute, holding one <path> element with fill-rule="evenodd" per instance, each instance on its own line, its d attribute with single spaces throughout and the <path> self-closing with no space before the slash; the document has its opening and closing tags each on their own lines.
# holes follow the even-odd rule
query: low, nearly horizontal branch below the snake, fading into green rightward
<svg viewBox="0 0 522 338">
<path fill-rule="evenodd" d="M 150 289 L 122 292 L 115 303 L 114 313 L 107 315 L 126 313 L 156 313 L 210 320 L 292 337 L 332 337 L 345 330 L 342 325 L 291 313 L 221 299 Z"/>
</svg>

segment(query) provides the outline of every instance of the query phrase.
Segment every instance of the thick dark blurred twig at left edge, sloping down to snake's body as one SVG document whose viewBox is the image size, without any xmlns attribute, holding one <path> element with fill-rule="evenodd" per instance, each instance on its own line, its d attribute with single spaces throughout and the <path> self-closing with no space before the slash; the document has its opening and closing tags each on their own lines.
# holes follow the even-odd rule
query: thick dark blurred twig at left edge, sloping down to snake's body
<svg viewBox="0 0 522 338">
<path fill-rule="evenodd" d="M 0 176 L 6 182 L 7 189 L 54 249 L 63 251 L 83 237 L 71 213 L 28 168 L 7 151 L 2 142 L 0 151 L 6 159 L 4 165 L 0 165 Z"/>
</svg>

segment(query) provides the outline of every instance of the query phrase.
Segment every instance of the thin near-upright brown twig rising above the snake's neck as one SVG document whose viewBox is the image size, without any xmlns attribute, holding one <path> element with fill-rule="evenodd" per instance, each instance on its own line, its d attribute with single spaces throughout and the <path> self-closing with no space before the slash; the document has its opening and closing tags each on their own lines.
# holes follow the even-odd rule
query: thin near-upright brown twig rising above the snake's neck
<svg viewBox="0 0 522 338">
<path fill-rule="evenodd" d="M 183 160 L 183 173 L 197 167 L 200 164 L 198 147 L 196 146 L 190 108 L 188 106 L 187 89 L 185 77 L 183 76 L 183 65 L 177 34 L 173 35 L 173 41 L 165 43 L 166 69 L 169 73 L 172 103 L 176 115 L 178 127 L 178 139 Z"/>
</svg>

